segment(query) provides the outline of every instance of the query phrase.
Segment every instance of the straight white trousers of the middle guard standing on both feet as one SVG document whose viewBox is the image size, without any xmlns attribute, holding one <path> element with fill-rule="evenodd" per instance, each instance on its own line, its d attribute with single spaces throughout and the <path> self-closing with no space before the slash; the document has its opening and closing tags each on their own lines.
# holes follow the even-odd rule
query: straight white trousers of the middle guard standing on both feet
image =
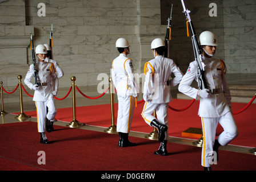
<svg viewBox="0 0 256 182">
<path fill-rule="evenodd" d="M 117 132 L 129 133 L 133 120 L 135 98 L 133 96 L 117 96 L 117 98 Z"/>
</svg>

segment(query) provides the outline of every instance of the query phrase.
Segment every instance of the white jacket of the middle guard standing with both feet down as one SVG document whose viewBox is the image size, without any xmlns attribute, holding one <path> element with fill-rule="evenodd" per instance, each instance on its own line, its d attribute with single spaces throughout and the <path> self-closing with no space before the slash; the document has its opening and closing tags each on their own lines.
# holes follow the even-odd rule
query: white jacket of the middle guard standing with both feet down
<svg viewBox="0 0 256 182">
<path fill-rule="evenodd" d="M 138 97 L 139 87 L 133 75 L 133 61 L 123 53 L 113 60 L 111 75 L 118 96 Z"/>
</svg>

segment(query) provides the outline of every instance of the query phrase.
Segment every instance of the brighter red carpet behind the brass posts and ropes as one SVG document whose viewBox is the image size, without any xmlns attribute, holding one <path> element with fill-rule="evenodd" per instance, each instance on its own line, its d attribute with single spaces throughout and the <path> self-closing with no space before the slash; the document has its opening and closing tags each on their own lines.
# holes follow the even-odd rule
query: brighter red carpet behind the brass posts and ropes
<svg viewBox="0 0 256 182">
<path fill-rule="evenodd" d="M 133 123 L 131 124 L 131 131 L 138 131 L 143 133 L 151 133 L 153 128 L 145 123 L 141 117 L 141 111 L 145 102 L 137 104 L 134 110 Z M 174 109 L 183 109 L 191 103 L 191 100 L 178 100 L 174 99 L 170 102 L 170 106 Z M 233 103 L 233 112 L 243 109 L 247 104 Z M 115 121 L 117 119 L 118 104 L 115 107 Z M 189 127 L 201 128 L 201 118 L 198 117 L 199 101 L 195 101 L 189 109 L 185 111 L 173 111 L 169 109 L 169 135 L 171 137 L 183 137 L 182 132 Z M 96 106 L 83 106 L 77 107 L 77 120 L 86 125 L 109 127 L 111 126 L 111 113 L 110 104 L 96 105 Z M 239 135 L 230 144 L 238 146 L 255 147 L 256 146 L 256 104 L 252 104 L 248 109 L 240 114 L 234 115 L 235 121 L 238 126 Z M 36 117 L 35 111 L 28 111 L 26 114 L 31 117 Z M 73 120 L 72 108 L 58 109 L 57 120 L 71 122 Z M 217 127 L 217 135 L 221 134 L 222 127 Z M 191 138 L 197 139 L 197 138 Z"/>
</svg>

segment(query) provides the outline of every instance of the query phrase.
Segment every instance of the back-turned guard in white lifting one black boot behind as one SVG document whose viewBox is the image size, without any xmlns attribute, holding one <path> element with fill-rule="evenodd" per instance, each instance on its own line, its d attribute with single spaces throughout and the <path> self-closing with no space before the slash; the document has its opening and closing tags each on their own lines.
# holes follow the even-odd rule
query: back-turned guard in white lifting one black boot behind
<svg viewBox="0 0 256 182">
<path fill-rule="evenodd" d="M 168 107 L 171 97 L 169 85 L 179 84 L 183 73 L 179 70 L 173 60 L 163 57 L 165 43 L 162 39 L 154 39 L 151 43 L 154 59 L 145 64 L 146 75 L 143 88 L 143 99 L 145 105 L 142 110 L 142 117 L 149 126 L 154 126 L 159 132 L 160 147 L 154 152 L 156 155 L 167 155 L 166 145 L 168 134 Z M 174 78 L 169 80 L 171 73 Z M 152 113 L 156 111 L 157 118 Z"/>
</svg>

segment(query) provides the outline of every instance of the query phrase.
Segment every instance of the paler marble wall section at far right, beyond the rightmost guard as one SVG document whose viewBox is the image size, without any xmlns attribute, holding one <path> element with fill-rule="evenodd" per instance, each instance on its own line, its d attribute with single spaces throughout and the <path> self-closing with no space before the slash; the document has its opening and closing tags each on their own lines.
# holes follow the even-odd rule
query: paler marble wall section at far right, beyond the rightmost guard
<svg viewBox="0 0 256 182">
<path fill-rule="evenodd" d="M 225 61 L 229 72 L 256 73 L 256 1 L 223 1 Z"/>
</svg>

